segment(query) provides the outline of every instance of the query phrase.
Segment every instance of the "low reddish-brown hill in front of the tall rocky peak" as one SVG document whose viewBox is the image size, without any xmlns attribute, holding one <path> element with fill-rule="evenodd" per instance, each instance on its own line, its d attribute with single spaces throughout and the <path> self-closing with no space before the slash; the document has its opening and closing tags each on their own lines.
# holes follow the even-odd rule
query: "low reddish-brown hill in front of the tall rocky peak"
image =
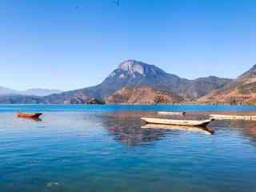
<svg viewBox="0 0 256 192">
<path fill-rule="evenodd" d="M 159 104 L 178 103 L 184 99 L 168 90 L 154 90 L 150 86 L 124 87 L 106 98 L 106 103 Z"/>
</svg>

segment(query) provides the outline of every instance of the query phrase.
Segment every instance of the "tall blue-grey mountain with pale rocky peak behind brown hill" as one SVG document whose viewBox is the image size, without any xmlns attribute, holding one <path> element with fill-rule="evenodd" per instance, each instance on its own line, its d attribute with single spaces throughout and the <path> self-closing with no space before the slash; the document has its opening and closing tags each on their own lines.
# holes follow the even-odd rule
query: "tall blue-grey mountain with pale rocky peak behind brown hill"
<svg viewBox="0 0 256 192">
<path fill-rule="evenodd" d="M 222 88 L 230 81 L 228 78 L 213 76 L 195 80 L 179 78 L 175 74 L 166 73 L 157 66 L 127 60 L 122 62 L 98 86 L 52 94 L 44 99 L 46 103 L 72 103 L 72 100 L 104 99 L 124 87 L 150 86 L 154 90 L 170 90 L 186 100 L 194 100 L 210 93 L 211 90 Z"/>
</svg>

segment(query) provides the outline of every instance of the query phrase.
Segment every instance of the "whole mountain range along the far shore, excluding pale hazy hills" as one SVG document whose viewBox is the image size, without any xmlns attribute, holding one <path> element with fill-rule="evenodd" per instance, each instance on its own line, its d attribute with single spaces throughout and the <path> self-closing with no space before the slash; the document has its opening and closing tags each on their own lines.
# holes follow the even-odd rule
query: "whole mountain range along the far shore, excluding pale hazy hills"
<svg viewBox="0 0 256 192">
<path fill-rule="evenodd" d="M 82 104 L 92 98 L 105 100 L 107 103 L 230 103 L 241 101 L 243 97 L 241 95 L 246 95 L 250 102 L 253 102 L 250 96 L 254 87 L 256 89 L 256 80 L 254 79 L 256 79 L 256 66 L 234 80 L 215 76 L 189 80 L 180 78 L 175 74 L 168 74 L 154 65 L 127 60 L 119 64 L 118 68 L 113 70 L 97 86 L 50 95 L 15 94 L 2 96 L 0 103 Z M 239 96 L 238 101 L 227 98 L 227 93 L 230 93 L 231 90 L 237 91 L 238 88 L 239 95 L 236 94 L 235 96 Z M 217 96 L 221 94 L 222 99 L 219 99 Z M 232 95 L 234 96 L 234 94 Z"/>
</svg>

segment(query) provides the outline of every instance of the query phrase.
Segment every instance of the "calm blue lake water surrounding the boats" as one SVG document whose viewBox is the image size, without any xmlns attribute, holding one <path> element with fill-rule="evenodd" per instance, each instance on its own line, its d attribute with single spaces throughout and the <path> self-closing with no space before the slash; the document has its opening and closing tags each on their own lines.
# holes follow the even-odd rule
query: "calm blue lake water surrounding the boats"
<svg viewBox="0 0 256 192">
<path fill-rule="evenodd" d="M 141 128 L 157 110 L 195 118 L 256 107 L 2 105 L 0 191 L 256 191 L 256 122 L 212 122 L 212 135 Z"/>
</svg>

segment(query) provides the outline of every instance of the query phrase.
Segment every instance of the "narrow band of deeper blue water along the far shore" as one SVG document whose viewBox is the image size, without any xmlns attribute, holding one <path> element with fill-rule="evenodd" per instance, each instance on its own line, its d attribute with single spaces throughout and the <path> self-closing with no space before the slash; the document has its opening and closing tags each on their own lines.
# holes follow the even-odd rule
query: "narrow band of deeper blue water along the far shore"
<svg viewBox="0 0 256 192">
<path fill-rule="evenodd" d="M 142 111 L 250 111 L 256 106 L 218 106 L 218 105 L 0 105 L 0 112 L 17 111 L 117 111 L 117 110 L 142 110 Z"/>
</svg>

